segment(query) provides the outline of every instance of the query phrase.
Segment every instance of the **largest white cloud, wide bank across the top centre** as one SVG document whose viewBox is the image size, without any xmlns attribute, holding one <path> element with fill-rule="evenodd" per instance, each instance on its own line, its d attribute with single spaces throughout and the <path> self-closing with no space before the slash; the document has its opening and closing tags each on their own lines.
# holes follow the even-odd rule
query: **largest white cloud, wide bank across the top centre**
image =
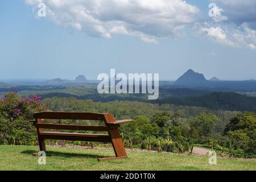
<svg viewBox="0 0 256 182">
<path fill-rule="evenodd" d="M 181 0 L 26 0 L 36 8 L 47 6 L 47 18 L 89 36 L 138 36 L 144 42 L 174 37 L 180 28 L 195 23 L 200 10 Z"/>
</svg>

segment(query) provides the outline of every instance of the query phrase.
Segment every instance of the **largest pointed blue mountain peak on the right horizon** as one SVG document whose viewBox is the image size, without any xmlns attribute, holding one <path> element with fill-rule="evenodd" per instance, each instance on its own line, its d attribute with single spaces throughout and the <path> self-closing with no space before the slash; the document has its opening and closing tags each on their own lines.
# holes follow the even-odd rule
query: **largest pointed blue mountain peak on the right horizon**
<svg viewBox="0 0 256 182">
<path fill-rule="evenodd" d="M 176 84 L 199 84 L 207 82 L 202 73 L 196 73 L 192 69 L 188 69 L 182 76 L 180 76 L 175 83 Z"/>
</svg>

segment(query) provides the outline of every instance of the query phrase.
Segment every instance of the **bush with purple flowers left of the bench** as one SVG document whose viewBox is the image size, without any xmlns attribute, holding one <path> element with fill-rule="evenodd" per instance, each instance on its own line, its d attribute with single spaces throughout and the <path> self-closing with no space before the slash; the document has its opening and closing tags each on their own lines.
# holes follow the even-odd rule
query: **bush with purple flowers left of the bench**
<svg viewBox="0 0 256 182">
<path fill-rule="evenodd" d="M 35 144 L 33 113 L 47 110 L 38 96 L 19 97 L 10 92 L 0 100 L 0 144 Z"/>
</svg>

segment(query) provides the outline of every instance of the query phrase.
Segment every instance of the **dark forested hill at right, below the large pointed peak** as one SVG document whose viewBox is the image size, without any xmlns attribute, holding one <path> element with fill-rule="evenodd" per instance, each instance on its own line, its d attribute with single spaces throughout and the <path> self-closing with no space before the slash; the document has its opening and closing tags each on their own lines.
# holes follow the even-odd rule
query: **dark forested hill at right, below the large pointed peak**
<svg viewBox="0 0 256 182">
<path fill-rule="evenodd" d="M 167 97 L 154 102 L 159 104 L 201 106 L 214 110 L 256 111 L 256 97 L 248 97 L 232 92 L 214 92 L 199 97 Z"/>
</svg>

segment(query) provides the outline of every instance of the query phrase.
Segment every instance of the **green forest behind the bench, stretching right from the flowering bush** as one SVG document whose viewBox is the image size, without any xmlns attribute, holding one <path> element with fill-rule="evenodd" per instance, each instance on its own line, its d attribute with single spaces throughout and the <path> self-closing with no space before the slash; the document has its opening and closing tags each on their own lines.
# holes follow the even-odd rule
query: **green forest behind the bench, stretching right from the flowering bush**
<svg viewBox="0 0 256 182">
<path fill-rule="evenodd" d="M 182 150 L 189 150 L 189 146 L 194 143 L 208 147 L 212 145 L 216 149 L 223 147 L 226 150 L 233 145 L 236 156 L 256 155 L 256 114 L 253 112 L 138 101 L 94 102 L 57 97 L 46 98 L 43 102 L 53 111 L 94 111 L 112 113 L 117 119 L 134 119 L 135 122 L 121 126 L 129 147 L 148 148 L 150 137 L 158 142 L 171 138 L 184 147 Z M 215 144 L 210 144 L 210 141 Z M 181 150 L 177 146 L 172 144 L 166 150 Z M 154 147 L 157 148 L 152 142 L 152 148 Z"/>
</svg>

